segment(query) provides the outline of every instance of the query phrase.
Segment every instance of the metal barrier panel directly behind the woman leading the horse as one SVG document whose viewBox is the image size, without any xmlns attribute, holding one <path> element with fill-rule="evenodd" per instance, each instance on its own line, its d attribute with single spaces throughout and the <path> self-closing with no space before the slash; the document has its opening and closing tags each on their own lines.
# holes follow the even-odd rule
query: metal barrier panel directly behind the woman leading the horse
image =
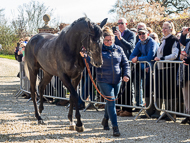
<svg viewBox="0 0 190 143">
<path fill-rule="evenodd" d="M 131 110 L 132 108 L 140 109 L 139 113 L 135 117 L 135 119 L 137 119 L 140 113 L 149 109 L 152 104 L 152 86 L 150 86 L 152 85 L 152 68 L 150 68 L 151 64 L 149 62 L 139 62 L 137 64 L 133 64 L 130 61 L 129 63 L 131 68 L 131 79 L 128 83 L 125 83 L 125 89 L 121 89 L 124 90 L 124 93 L 116 101 L 116 106 L 122 108 L 131 108 Z M 147 72 L 146 68 L 144 67 L 148 68 Z M 94 67 L 91 68 L 91 72 L 92 76 L 94 77 Z M 98 94 L 93 84 L 89 82 L 90 78 L 86 69 L 84 70 L 83 77 L 84 79 L 82 79 L 80 82 L 80 96 L 82 101 L 92 104 L 106 104 L 105 99 L 103 99 Z M 89 99 L 89 96 L 91 100 L 86 100 Z M 144 106 L 145 101 L 146 106 Z M 144 113 L 147 115 L 147 117 L 149 117 L 146 112 Z"/>
</svg>

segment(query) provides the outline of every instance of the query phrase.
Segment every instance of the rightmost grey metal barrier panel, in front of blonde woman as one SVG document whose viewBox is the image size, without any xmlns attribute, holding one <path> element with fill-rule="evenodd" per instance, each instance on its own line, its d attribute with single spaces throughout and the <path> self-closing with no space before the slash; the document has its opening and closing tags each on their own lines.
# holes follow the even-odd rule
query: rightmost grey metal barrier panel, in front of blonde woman
<svg viewBox="0 0 190 143">
<path fill-rule="evenodd" d="M 165 115 L 175 122 L 170 114 L 190 117 L 189 65 L 184 65 L 182 61 L 157 61 L 154 73 L 154 105 L 163 112 L 157 122 Z"/>
</svg>

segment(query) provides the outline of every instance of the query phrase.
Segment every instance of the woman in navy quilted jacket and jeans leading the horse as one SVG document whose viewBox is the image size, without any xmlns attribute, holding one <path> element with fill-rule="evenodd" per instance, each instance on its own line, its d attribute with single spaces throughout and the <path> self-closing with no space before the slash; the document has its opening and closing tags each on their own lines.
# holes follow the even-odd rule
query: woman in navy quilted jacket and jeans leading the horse
<svg viewBox="0 0 190 143">
<path fill-rule="evenodd" d="M 121 74 L 123 76 L 123 81 L 129 81 L 130 66 L 123 49 L 114 44 L 115 35 L 110 28 L 104 28 L 103 37 L 103 65 L 101 68 L 96 69 L 98 86 L 101 93 L 107 98 L 102 125 L 104 130 L 109 130 L 108 120 L 110 119 L 113 127 L 113 136 L 120 136 L 114 99 L 119 93 Z M 84 53 L 81 52 L 80 54 L 84 57 Z"/>
</svg>

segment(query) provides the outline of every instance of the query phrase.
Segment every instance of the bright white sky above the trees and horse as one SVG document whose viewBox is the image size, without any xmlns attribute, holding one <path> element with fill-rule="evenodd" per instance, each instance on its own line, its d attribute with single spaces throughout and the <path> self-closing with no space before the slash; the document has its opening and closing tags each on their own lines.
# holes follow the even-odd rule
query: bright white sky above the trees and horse
<svg viewBox="0 0 190 143">
<path fill-rule="evenodd" d="M 113 7 L 116 0 L 35 0 L 54 9 L 52 18 L 59 19 L 63 23 L 72 23 L 84 13 L 93 22 L 101 22 L 108 18 L 108 22 L 115 21 L 115 15 L 108 11 Z M 13 19 L 17 16 L 18 6 L 29 3 L 29 0 L 4 0 L 0 4 L 0 9 L 5 9 L 3 14 L 7 19 Z"/>
</svg>

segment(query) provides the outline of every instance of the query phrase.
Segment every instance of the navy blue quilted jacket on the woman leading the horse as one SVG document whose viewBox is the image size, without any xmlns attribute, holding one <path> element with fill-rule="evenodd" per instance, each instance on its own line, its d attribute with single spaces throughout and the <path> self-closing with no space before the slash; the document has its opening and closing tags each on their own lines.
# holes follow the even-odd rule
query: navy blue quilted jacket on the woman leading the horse
<svg viewBox="0 0 190 143">
<path fill-rule="evenodd" d="M 96 69 L 97 82 L 118 84 L 121 76 L 130 78 L 130 66 L 123 49 L 118 45 L 113 45 L 112 49 L 102 46 L 103 65 Z M 122 70 L 121 70 L 122 68 Z"/>
</svg>

